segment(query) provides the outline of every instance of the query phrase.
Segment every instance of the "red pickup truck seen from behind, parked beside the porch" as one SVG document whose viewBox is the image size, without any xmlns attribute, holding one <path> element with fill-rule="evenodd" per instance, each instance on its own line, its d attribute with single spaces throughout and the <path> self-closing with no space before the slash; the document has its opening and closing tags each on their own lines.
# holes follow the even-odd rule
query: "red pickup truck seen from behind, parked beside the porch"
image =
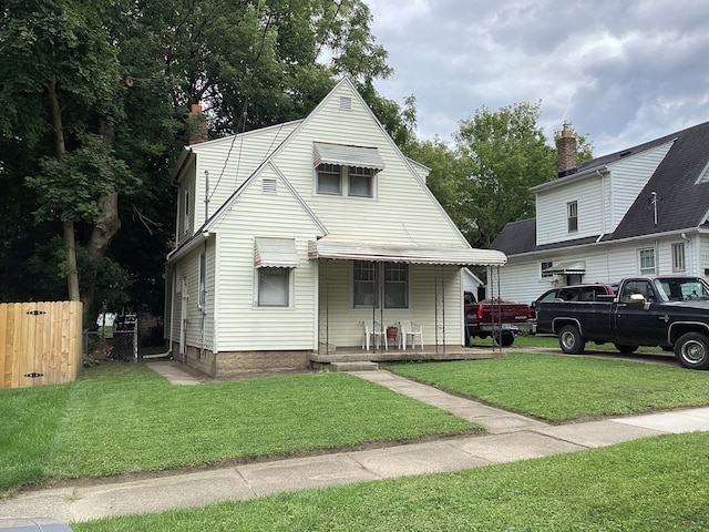
<svg viewBox="0 0 709 532">
<path fill-rule="evenodd" d="M 472 291 L 465 291 L 465 325 L 471 338 L 487 338 L 511 346 L 517 335 L 532 330 L 530 306 L 510 301 L 476 301 Z"/>
</svg>

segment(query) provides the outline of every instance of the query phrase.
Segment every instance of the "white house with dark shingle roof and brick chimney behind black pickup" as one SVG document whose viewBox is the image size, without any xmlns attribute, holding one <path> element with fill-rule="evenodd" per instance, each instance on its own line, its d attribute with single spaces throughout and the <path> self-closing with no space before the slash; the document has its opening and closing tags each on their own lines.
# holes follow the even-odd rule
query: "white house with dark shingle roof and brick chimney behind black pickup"
<svg viewBox="0 0 709 532">
<path fill-rule="evenodd" d="M 559 177 L 535 186 L 536 218 L 492 247 L 502 297 L 530 303 L 556 285 L 645 274 L 709 274 L 709 122 L 576 166 L 565 131 Z"/>
</svg>

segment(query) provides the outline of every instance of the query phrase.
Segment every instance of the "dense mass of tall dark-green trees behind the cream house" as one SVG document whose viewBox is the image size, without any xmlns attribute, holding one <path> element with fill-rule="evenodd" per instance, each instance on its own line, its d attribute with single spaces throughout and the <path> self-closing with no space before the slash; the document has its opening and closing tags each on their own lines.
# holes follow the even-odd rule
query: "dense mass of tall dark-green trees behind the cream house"
<svg viewBox="0 0 709 532">
<path fill-rule="evenodd" d="M 361 0 L 6 0 L 0 299 L 162 310 L 191 103 L 210 134 L 239 133 L 305 116 L 349 75 L 405 140 L 373 89 L 391 69 L 370 22 Z"/>
</svg>

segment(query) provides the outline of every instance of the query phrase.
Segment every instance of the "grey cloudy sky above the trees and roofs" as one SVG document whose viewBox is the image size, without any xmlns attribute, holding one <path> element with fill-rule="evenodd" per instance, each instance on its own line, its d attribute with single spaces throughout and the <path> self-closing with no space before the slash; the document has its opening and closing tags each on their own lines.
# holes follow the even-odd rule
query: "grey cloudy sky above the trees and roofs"
<svg viewBox="0 0 709 532">
<path fill-rule="evenodd" d="M 708 0 L 364 0 L 419 136 L 444 141 L 483 105 L 541 101 L 595 155 L 709 121 Z"/>
</svg>

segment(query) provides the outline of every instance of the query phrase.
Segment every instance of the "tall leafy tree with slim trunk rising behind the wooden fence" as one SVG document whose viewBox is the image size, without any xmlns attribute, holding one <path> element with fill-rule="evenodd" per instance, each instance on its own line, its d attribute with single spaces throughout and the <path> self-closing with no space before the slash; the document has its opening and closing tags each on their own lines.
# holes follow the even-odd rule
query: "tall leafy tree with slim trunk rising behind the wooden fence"
<svg viewBox="0 0 709 532">
<path fill-rule="evenodd" d="M 90 224 L 86 250 L 95 263 L 120 227 L 117 190 L 127 182 L 111 151 L 121 84 L 102 22 L 107 4 L 8 0 L 0 23 L 0 94 L 10 102 L 2 134 L 37 150 L 41 163 L 28 180 L 37 192 L 35 214 L 61 222 L 69 298 L 82 299 L 84 311 L 92 283 L 82 297 L 75 224 Z"/>
</svg>

